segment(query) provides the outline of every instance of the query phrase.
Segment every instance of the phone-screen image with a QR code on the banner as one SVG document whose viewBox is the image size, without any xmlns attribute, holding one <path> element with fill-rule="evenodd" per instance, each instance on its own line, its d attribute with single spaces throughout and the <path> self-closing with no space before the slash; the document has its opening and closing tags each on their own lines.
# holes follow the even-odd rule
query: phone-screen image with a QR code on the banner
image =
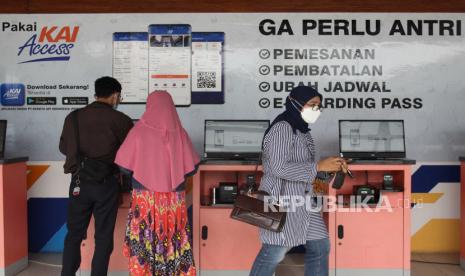
<svg viewBox="0 0 465 276">
<path fill-rule="evenodd" d="M 192 33 L 192 104 L 224 104 L 223 32 Z"/>
</svg>

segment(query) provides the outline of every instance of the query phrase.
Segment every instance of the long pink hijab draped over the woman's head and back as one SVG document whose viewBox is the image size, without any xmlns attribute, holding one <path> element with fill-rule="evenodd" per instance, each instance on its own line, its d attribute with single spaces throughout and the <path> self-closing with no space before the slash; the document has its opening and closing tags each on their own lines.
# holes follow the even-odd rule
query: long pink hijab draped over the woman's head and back
<svg viewBox="0 0 465 276">
<path fill-rule="evenodd" d="M 153 192 L 172 192 L 195 170 L 199 156 L 181 125 L 173 99 L 166 91 L 147 98 L 142 118 L 131 129 L 115 163 Z"/>
</svg>

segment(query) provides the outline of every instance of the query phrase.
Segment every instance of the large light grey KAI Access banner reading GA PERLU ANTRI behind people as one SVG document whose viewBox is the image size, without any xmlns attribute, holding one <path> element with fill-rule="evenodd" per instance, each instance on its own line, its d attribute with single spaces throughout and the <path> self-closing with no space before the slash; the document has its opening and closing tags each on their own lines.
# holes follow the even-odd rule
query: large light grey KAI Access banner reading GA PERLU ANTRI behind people
<svg viewBox="0 0 465 276">
<path fill-rule="evenodd" d="M 311 85 L 325 106 L 312 126 L 322 156 L 337 154 L 338 120 L 367 118 L 404 120 L 408 158 L 450 161 L 465 155 L 459 120 L 465 116 L 465 14 L 2 14 L 0 19 L 0 116 L 10 126 L 7 148 L 31 160 L 62 160 L 57 144 L 65 116 L 93 101 L 95 80 L 112 74 L 123 83 L 123 102 L 144 102 L 147 92 L 164 89 L 177 105 L 188 105 L 178 113 L 199 153 L 205 119 L 273 120 L 293 87 Z M 192 30 L 203 35 L 194 32 L 194 43 Z M 212 50 L 219 44 L 209 36 L 218 31 L 224 32 L 218 41 L 227 38 L 222 55 Z M 114 37 L 121 32 L 147 37 Z M 126 55 L 131 58 L 119 58 Z M 201 61 L 202 55 L 210 62 Z M 148 63 L 146 73 L 132 70 L 135 56 L 142 60 L 137 63 Z M 219 91 L 224 104 L 193 104 L 199 103 L 196 95 L 206 103 L 204 94 Z M 145 106 L 118 109 L 140 118 Z"/>
</svg>

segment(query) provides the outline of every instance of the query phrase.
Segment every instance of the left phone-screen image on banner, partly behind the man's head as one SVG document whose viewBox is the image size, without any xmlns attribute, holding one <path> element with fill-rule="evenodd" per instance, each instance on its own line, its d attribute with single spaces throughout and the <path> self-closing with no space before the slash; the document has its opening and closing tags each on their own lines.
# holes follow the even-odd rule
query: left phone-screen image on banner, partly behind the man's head
<svg viewBox="0 0 465 276">
<path fill-rule="evenodd" d="M 122 86 L 122 104 L 143 104 L 148 95 L 148 33 L 113 33 L 113 77 Z"/>
</svg>

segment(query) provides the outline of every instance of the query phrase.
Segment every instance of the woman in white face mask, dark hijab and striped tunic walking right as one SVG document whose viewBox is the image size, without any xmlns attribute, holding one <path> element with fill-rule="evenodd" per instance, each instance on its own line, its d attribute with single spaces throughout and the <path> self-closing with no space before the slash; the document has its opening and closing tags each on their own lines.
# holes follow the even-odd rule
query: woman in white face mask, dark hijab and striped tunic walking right
<svg viewBox="0 0 465 276">
<path fill-rule="evenodd" d="M 260 190 L 275 198 L 312 196 L 316 177 L 327 178 L 328 172 L 345 170 L 343 158 L 316 160 L 315 144 L 308 124 L 321 113 L 322 96 L 306 86 L 294 88 L 286 99 L 286 111 L 266 131 L 263 139 L 263 178 Z M 313 202 L 313 200 L 311 201 Z M 287 201 L 286 223 L 281 232 L 260 229 L 263 246 L 258 253 L 251 276 L 272 276 L 287 251 L 306 245 L 305 275 L 328 275 L 329 239 L 320 212 Z M 300 206 L 299 206 L 300 205 Z"/>
</svg>

